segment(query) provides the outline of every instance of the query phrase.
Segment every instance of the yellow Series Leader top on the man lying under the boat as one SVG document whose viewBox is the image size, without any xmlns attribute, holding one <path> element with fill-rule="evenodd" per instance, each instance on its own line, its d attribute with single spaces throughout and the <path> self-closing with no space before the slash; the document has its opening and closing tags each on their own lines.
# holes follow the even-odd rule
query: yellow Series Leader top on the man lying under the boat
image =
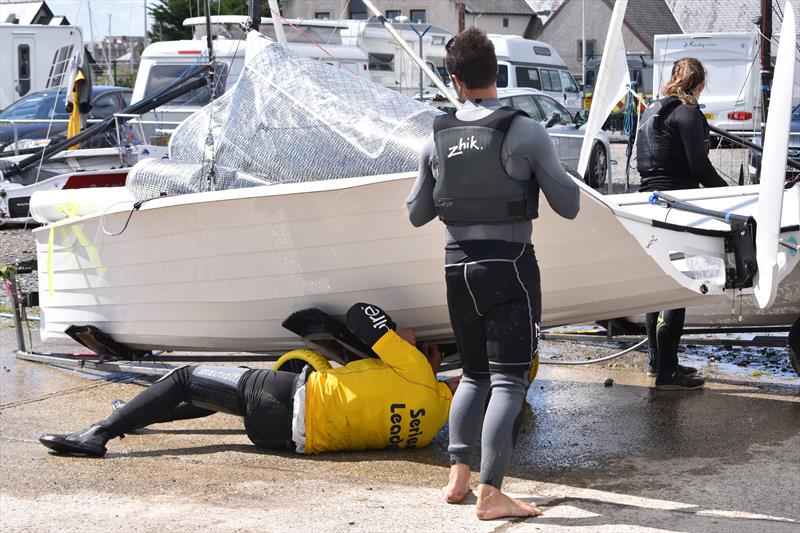
<svg viewBox="0 0 800 533">
<path fill-rule="evenodd" d="M 419 350 L 394 331 L 372 349 L 309 377 L 305 453 L 423 447 L 447 421 L 453 394 Z"/>
</svg>

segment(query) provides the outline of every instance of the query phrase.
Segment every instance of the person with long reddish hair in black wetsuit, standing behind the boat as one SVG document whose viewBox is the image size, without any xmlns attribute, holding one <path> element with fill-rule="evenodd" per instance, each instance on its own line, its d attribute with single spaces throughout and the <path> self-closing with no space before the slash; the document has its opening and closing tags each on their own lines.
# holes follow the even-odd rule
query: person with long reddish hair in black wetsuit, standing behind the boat
<svg viewBox="0 0 800 533">
<path fill-rule="evenodd" d="M 636 140 L 636 166 L 642 179 L 640 191 L 669 191 L 725 187 L 727 183 L 708 159 L 709 128 L 697 99 L 705 88 L 705 69 L 694 58 L 672 66 L 664 84 L 665 98 L 656 100 L 640 120 Z M 697 369 L 678 364 L 678 345 L 686 309 L 647 313 L 650 373 L 659 390 L 692 390 L 703 387 L 693 378 Z"/>
</svg>

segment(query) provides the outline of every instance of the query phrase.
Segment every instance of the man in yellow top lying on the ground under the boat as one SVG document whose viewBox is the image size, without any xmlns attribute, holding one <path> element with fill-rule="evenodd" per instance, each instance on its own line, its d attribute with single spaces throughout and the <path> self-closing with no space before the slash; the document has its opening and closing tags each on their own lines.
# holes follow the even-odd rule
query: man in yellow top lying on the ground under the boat
<svg viewBox="0 0 800 533">
<path fill-rule="evenodd" d="M 396 332 L 375 305 L 354 305 L 347 322 L 380 359 L 316 372 L 305 367 L 300 375 L 184 366 L 90 428 L 39 440 L 57 452 L 101 457 L 110 439 L 135 429 L 223 412 L 244 417 L 250 440 L 270 450 L 314 454 L 427 446 L 447 420 L 458 384 L 436 380 L 441 353 L 423 355 L 413 333 Z"/>
</svg>

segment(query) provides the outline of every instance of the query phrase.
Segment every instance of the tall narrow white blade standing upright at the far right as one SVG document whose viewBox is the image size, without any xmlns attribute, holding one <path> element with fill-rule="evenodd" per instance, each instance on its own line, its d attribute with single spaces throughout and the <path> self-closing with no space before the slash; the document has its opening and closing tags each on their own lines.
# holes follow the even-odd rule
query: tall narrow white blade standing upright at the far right
<svg viewBox="0 0 800 533">
<path fill-rule="evenodd" d="M 772 98 L 764 132 L 764 152 L 761 156 L 761 185 L 758 194 L 758 226 L 756 228 L 755 278 L 756 304 L 765 309 L 772 304 L 778 290 L 778 239 L 783 206 L 783 183 L 786 177 L 786 154 L 789 149 L 789 129 L 792 117 L 795 34 L 794 9 L 787 0 L 783 14 Z"/>
</svg>

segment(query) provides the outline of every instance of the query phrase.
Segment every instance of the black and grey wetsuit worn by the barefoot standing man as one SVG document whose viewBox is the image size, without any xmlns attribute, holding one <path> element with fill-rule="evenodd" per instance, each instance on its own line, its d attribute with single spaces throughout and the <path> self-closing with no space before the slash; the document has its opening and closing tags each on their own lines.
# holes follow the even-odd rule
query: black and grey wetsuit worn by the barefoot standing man
<svg viewBox="0 0 800 533">
<path fill-rule="evenodd" d="M 467 174 L 458 176 L 458 180 L 483 180 L 488 187 L 502 179 L 533 181 L 535 186 L 527 188 L 528 194 L 540 190 L 556 213 L 574 218 L 579 188 L 564 171 L 544 127 L 524 116 L 513 117 L 506 125 L 502 120 L 493 121 L 491 115 L 501 107 L 495 99 L 468 102 L 456 113 L 457 120 L 448 124 L 464 128 L 465 134 L 459 136 L 459 140 L 463 138 L 462 148 L 476 148 L 470 124 L 500 128 L 503 134 L 499 151 L 491 151 L 491 157 L 499 160 L 462 165 L 459 172 Z M 437 135 L 437 140 L 441 138 L 448 142 L 447 136 Z M 421 226 L 438 214 L 446 225 L 447 301 L 464 365 L 464 377 L 450 408 L 451 462 L 469 463 L 483 427 L 481 483 L 500 487 L 511 456 L 514 420 L 525 399 L 537 348 L 541 288 L 530 220 L 536 213 L 530 205 L 520 204 L 516 188 L 509 187 L 510 200 L 522 211 L 516 220 L 448 223 L 448 213 L 442 212 L 441 205 L 437 213 L 442 195 L 436 188 L 437 179 L 441 179 L 439 159 L 460 150 L 454 137 L 449 139 L 452 146 L 439 140 L 437 147 L 432 138 L 424 147 L 417 181 L 408 198 L 409 218 L 412 224 Z M 482 148 L 480 142 L 477 145 Z M 495 174 L 487 176 L 487 172 Z"/>
</svg>

